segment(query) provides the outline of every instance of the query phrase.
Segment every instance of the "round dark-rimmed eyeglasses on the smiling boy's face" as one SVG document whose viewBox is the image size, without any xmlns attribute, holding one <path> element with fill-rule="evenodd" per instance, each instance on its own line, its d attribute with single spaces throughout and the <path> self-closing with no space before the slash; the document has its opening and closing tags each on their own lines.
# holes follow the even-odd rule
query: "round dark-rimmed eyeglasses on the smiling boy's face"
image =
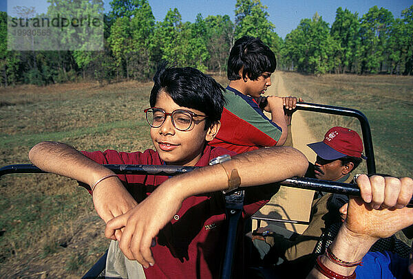
<svg viewBox="0 0 413 279">
<path fill-rule="evenodd" d="M 199 115 L 184 109 L 176 109 L 171 113 L 167 113 L 163 109 L 151 107 L 150 109 L 145 109 L 144 112 L 146 113 L 147 122 L 152 128 L 159 128 L 162 126 L 169 115 L 171 116 L 172 125 L 179 131 L 188 131 L 192 126 L 192 122 L 202 121 L 194 120 L 193 118 L 195 117 L 207 118 L 207 115 Z"/>
</svg>

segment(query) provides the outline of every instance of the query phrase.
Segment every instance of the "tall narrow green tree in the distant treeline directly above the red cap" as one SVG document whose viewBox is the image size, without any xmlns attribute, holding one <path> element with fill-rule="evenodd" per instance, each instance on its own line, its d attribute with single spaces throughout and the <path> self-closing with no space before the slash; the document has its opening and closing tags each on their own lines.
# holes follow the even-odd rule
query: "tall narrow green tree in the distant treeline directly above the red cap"
<svg viewBox="0 0 413 279">
<path fill-rule="evenodd" d="M 337 71 L 352 71 L 357 45 L 359 45 L 359 16 L 357 12 L 352 14 L 349 10 L 337 8 L 334 23 L 332 23 L 330 34 L 339 43 L 339 65 Z"/>
</svg>

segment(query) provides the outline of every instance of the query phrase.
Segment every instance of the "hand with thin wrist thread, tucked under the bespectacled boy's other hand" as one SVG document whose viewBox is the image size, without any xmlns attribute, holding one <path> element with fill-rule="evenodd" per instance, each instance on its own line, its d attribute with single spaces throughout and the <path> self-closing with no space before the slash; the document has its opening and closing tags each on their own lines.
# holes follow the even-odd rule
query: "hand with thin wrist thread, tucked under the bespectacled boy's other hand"
<svg viewBox="0 0 413 279">
<path fill-rule="evenodd" d="M 94 189 L 92 197 L 96 212 L 105 223 L 138 205 L 118 177 L 101 181 Z M 121 231 L 117 230 L 112 239 L 120 240 L 121 236 Z"/>
</svg>

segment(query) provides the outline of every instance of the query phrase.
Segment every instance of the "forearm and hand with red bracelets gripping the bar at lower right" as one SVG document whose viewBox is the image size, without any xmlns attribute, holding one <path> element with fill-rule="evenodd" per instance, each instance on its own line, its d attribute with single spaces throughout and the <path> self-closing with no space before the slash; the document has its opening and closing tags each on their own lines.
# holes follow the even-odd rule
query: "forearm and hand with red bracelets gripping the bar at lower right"
<svg viewBox="0 0 413 279">
<path fill-rule="evenodd" d="M 360 179 L 360 181 L 359 181 Z M 359 177 L 357 182 L 365 198 L 374 201 L 374 207 L 377 207 L 377 199 L 383 201 L 379 210 L 372 209 L 369 203 L 363 202 L 361 198 L 351 198 L 348 203 L 347 220 L 341 226 L 339 234 L 330 246 L 330 252 L 340 260 L 354 263 L 358 262 L 365 256 L 370 247 L 379 238 L 391 236 L 395 232 L 413 224 L 413 208 L 401 208 L 410 201 L 413 192 L 413 180 L 410 178 L 396 179 L 394 177 Z M 381 192 L 383 188 L 386 194 L 383 198 L 374 197 Z M 369 185 L 370 184 L 370 185 Z M 371 187 L 378 186 L 378 187 Z M 372 188 L 363 190 L 363 188 Z M 366 192 L 366 193 L 364 193 Z M 370 197 L 372 193 L 372 197 Z M 390 194 L 389 194 L 390 193 Z M 398 193 L 398 194 L 396 194 Z M 379 196 L 383 196 L 379 194 Z M 326 255 L 321 256 L 320 261 L 328 269 L 336 274 L 350 276 L 354 273 L 356 267 L 343 267 L 330 260 Z M 363 267 L 360 267 L 363 268 Z M 317 269 L 313 269 L 307 278 L 327 278 Z"/>
</svg>

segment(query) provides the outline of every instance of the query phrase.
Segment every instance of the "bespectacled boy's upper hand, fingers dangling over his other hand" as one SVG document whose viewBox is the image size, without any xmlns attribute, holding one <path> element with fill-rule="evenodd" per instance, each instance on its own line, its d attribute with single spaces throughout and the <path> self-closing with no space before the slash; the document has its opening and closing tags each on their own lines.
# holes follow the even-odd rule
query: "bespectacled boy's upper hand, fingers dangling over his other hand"
<svg viewBox="0 0 413 279">
<path fill-rule="evenodd" d="M 170 179 L 169 179 L 170 180 Z M 158 186 L 144 201 L 126 214 L 107 222 L 105 236 L 114 239 L 115 230 L 124 227 L 119 248 L 129 260 L 137 260 L 144 267 L 154 265 L 152 239 L 172 219 L 182 204 L 168 181 Z"/>
</svg>

